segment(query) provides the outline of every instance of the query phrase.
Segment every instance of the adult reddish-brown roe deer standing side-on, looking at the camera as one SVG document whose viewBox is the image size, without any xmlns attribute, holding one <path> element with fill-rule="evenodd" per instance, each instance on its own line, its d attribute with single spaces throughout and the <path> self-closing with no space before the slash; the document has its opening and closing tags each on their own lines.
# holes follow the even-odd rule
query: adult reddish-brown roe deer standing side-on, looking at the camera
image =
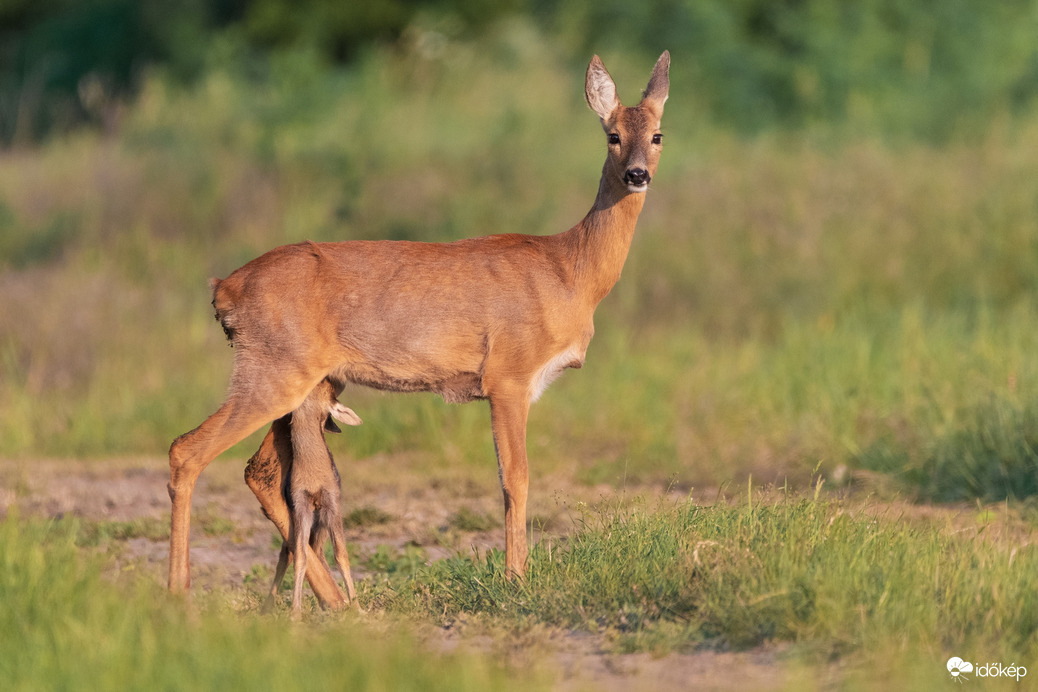
<svg viewBox="0 0 1038 692">
<path fill-rule="evenodd" d="M 583 364 L 595 308 L 620 278 L 662 148 L 670 63 L 664 52 L 640 103 L 626 107 L 602 61 L 592 58 L 584 92 L 606 133 L 607 156 L 594 205 L 567 231 L 300 243 L 213 282 L 235 366 L 220 409 L 169 449 L 171 590 L 190 586 L 191 496 L 201 471 L 272 420 L 281 421 L 283 435 L 283 416 L 326 377 L 433 391 L 452 403 L 488 399 L 506 565 L 523 574 L 529 406 L 563 369 Z M 278 430 L 275 422 L 257 452 L 270 463 L 284 450 Z"/>
</svg>

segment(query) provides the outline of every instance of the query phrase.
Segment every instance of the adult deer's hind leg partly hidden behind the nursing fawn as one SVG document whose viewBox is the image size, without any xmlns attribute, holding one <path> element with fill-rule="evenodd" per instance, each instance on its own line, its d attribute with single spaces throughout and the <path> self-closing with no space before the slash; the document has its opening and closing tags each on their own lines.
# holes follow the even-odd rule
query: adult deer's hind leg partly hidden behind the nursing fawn
<svg viewBox="0 0 1038 692">
<path fill-rule="evenodd" d="M 249 460 L 245 467 L 245 482 L 252 494 L 260 500 L 264 515 L 277 527 L 281 538 L 292 546 L 292 516 L 289 505 L 281 494 L 284 479 L 292 471 L 292 426 L 291 414 L 278 418 L 270 426 L 260 449 Z M 318 556 L 308 546 L 306 548 L 307 570 L 306 580 L 313 589 L 318 603 L 323 608 L 337 610 L 349 604 L 343 590 L 335 583 L 328 570 L 324 556 Z M 281 565 L 279 564 L 279 568 Z"/>
</svg>

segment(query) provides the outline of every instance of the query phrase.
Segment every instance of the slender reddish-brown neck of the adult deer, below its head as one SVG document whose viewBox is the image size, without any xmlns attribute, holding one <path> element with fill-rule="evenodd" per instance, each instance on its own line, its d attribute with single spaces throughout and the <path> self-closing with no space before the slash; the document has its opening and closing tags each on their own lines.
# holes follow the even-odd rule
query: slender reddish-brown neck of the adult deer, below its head
<svg viewBox="0 0 1038 692">
<path fill-rule="evenodd" d="M 593 306 L 620 279 L 645 198 L 644 192 L 628 191 L 616 176 L 603 170 L 595 205 L 570 231 L 576 245 L 578 290 Z"/>
</svg>

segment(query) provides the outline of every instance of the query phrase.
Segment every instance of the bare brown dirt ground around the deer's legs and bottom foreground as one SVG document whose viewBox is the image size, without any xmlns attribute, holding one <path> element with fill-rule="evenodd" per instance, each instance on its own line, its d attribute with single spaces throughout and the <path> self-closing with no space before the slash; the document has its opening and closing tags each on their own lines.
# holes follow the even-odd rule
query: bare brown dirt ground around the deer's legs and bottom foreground
<svg viewBox="0 0 1038 692">
<path fill-rule="evenodd" d="M 493 468 L 486 482 L 450 471 L 408 473 L 413 460 L 373 459 L 339 462 L 343 471 L 343 506 L 375 507 L 385 513 L 384 523 L 348 531 L 351 551 L 370 555 L 377 546 L 391 549 L 420 546 L 430 559 L 456 552 L 484 551 L 503 546 L 503 530 L 487 520 L 485 531 L 452 527 L 450 518 L 462 508 L 470 516 L 498 518 L 500 491 Z M 277 561 L 276 532 L 260 511 L 242 480 L 244 462 L 221 459 L 202 474 L 194 496 L 191 536 L 192 588 L 241 592 L 267 588 Z M 165 460 L 111 461 L 3 461 L 0 460 L 0 517 L 17 511 L 21 517 L 75 516 L 86 521 L 131 521 L 169 517 Z M 531 481 L 530 516 L 547 533 L 564 533 L 573 526 L 577 502 L 597 502 L 617 491 L 574 486 L 562 478 Z M 634 491 L 628 491 L 633 493 Z M 658 493 L 658 491 L 657 491 Z M 711 498 L 712 499 L 712 498 Z M 218 530 L 207 535 L 207 521 Z M 534 537 L 537 539 L 538 531 Z M 165 539 L 136 537 L 119 542 L 109 554 L 113 571 L 139 571 L 145 579 L 164 583 L 168 545 Z M 354 577 L 368 573 L 362 560 L 351 555 Z M 249 576 L 254 579 L 246 584 Z M 464 622 L 448 629 L 430 628 L 421 637 L 433 651 L 470 647 L 498 652 L 501 642 L 490 640 Z M 775 690 L 795 684 L 782 663 L 782 646 L 740 653 L 702 652 L 653 658 L 648 654 L 619 655 L 600 636 L 546 630 L 534 641 L 504 644 L 509 658 L 534 658 L 559 690 Z M 547 662 L 545 662 L 547 659 Z M 816 683 L 819 681 L 815 681 Z"/>
</svg>

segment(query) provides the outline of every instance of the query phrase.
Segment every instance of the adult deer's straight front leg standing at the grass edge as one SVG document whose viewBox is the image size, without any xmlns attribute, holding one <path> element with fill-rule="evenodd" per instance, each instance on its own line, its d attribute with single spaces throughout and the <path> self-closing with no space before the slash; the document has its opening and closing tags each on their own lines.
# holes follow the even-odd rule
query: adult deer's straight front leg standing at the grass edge
<svg viewBox="0 0 1038 692">
<path fill-rule="evenodd" d="M 504 564 L 509 576 L 526 570 L 526 418 L 529 402 L 524 393 L 490 398 L 490 418 L 497 450 L 497 471 L 504 495 Z"/>
</svg>

